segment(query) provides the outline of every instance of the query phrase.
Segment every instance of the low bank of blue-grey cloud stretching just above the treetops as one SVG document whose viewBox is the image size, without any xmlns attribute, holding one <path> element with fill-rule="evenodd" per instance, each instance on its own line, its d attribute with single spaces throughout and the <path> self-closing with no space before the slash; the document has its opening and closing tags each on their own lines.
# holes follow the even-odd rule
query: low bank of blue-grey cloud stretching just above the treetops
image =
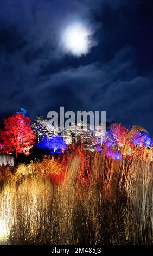
<svg viewBox="0 0 153 256">
<path fill-rule="evenodd" d="M 13 96 L 12 92 L 8 94 L 6 105 L 10 102 L 16 109 L 28 108 L 31 116 L 47 116 L 59 106 L 72 111 L 106 111 L 108 121 L 122 122 L 127 127 L 141 125 L 151 131 L 148 109 L 153 107 L 152 75 L 139 76 L 133 61 L 133 49 L 126 46 L 107 63 L 63 69 L 37 77 L 33 84 L 28 77 L 22 82 L 22 92 L 16 93 L 14 88 Z"/>
</svg>

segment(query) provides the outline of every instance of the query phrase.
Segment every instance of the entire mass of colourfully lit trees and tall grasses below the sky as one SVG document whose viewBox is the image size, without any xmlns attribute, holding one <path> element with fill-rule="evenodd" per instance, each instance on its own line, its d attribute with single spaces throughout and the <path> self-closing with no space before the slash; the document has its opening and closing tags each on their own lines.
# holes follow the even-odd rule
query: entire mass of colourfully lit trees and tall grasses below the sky
<svg viewBox="0 0 153 256">
<path fill-rule="evenodd" d="M 151 245 L 149 133 L 117 123 L 105 134 L 57 133 L 45 124 L 16 113 L 1 125 L 0 244 Z M 34 149 L 41 158 L 17 163 Z"/>
</svg>

